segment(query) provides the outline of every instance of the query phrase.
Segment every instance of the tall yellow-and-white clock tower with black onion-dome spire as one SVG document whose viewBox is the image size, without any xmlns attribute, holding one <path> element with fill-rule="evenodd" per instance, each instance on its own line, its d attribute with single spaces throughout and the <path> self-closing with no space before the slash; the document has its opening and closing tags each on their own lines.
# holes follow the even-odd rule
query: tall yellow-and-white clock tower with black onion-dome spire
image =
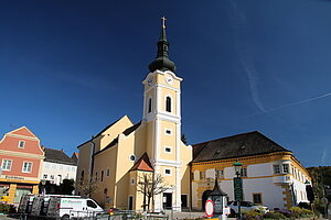
<svg viewBox="0 0 331 220">
<path fill-rule="evenodd" d="M 181 81 L 175 65 L 169 58 L 166 35 L 166 18 L 158 42 L 156 59 L 149 65 L 150 73 L 142 81 L 143 120 L 147 124 L 146 151 L 161 175 L 167 190 L 154 198 L 154 210 L 172 207 L 181 210 Z"/>
</svg>

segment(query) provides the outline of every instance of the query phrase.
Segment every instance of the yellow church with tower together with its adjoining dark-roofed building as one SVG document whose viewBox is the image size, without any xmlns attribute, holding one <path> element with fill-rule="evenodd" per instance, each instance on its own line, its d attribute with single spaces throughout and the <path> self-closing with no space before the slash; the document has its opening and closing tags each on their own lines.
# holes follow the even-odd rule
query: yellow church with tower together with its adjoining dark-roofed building
<svg viewBox="0 0 331 220">
<path fill-rule="evenodd" d="M 76 194 L 90 196 L 105 208 L 141 210 L 146 205 L 141 177 L 160 176 L 162 190 L 152 196 L 149 209 L 203 210 L 217 182 L 234 200 L 233 164 L 239 160 L 244 164 L 244 200 L 270 209 L 307 202 L 306 184 L 311 178 L 306 168 L 291 151 L 259 132 L 193 146 L 181 141 L 182 78 L 169 58 L 164 20 L 157 57 L 142 80 L 141 121 L 134 123 L 125 116 L 77 146 Z M 94 190 L 87 194 L 82 190 L 84 185 Z"/>
</svg>

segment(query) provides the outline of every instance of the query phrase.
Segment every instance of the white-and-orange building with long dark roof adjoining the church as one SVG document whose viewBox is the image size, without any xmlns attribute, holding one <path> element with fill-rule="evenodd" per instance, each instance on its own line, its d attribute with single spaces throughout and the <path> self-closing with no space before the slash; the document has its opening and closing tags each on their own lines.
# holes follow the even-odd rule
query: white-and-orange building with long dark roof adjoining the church
<svg viewBox="0 0 331 220">
<path fill-rule="evenodd" d="M 243 164 L 244 200 L 270 209 L 287 209 L 299 202 L 309 202 L 306 182 L 311 178 L 292 152 L 284 148 L 259 132 L 227 136 L 193 145 L 192 207 L 204 209 L 204 202 L 214 187 L 220 186 L 234 200 L 235 172 L 233 164 Z"/>
</svg>

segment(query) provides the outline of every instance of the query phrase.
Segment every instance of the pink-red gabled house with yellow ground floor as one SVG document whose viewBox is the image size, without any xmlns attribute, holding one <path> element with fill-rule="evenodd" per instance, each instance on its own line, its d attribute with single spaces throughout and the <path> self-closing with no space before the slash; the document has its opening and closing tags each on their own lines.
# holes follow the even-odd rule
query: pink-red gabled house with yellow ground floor
<svg viewBox="0 0 331 220">
<path fill-rule="evenodd" d="M 22 127 L 4 134 L 0 141 L 0 194 L 9 204 L 20 202 L 25 194 L 38 194 L 44 152 L 40 140 Z"/>
</svg>

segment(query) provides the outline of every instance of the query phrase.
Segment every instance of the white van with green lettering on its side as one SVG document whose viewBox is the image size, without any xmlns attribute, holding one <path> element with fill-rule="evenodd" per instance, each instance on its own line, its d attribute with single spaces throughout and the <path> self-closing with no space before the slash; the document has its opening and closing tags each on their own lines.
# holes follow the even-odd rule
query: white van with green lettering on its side
<svg viewBox="0 0 331 220">
<path fill-rule="evenodd" d="M 104 212 L 93 199 L 51 197 L 47 217 L 67 220 L 72 218 L 98 217 Z"/>
</svg>

